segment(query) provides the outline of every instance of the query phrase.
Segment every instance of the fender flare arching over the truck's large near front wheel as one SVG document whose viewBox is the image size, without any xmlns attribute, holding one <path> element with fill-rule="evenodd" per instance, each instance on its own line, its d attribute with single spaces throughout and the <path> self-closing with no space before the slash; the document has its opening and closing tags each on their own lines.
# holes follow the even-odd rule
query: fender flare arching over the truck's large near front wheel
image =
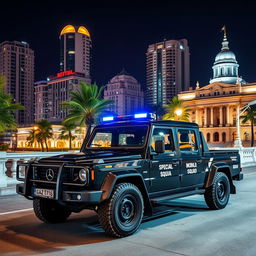
<svg viewBox="0 0 256 256">
<path fill-rule="evenodd" d="M 144 199 L 144 215 L 152 216 L 153 209 L 149 200 L 149 195 L 143 177 L 136 170 L 130 170 L 129 172 L 110 172 L 105 177 L 101 186 L 102 196 L 101 201 L 108 200 L 114 190 L 116 184 L 121 182 L 132 183 L 137 186 Z"/>
</svg>

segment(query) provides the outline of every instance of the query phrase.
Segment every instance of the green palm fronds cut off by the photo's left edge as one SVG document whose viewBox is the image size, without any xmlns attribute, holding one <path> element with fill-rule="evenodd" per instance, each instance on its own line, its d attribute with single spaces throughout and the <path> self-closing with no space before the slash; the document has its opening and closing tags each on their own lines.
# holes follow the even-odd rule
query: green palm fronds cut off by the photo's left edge
<svg viewBox="0 0 256 256">
<path fill-rule="evenodd" d="M 14 113 L 17 110 L 23 110 L 24 107 L 19 103 L 12 103 L 11 94 L 4 92 L 5 79 L 0 76 L 0 133 L 3 134 L 8 129 L 15 129 L 17 123 L 14 118 Z"/>
</svg>

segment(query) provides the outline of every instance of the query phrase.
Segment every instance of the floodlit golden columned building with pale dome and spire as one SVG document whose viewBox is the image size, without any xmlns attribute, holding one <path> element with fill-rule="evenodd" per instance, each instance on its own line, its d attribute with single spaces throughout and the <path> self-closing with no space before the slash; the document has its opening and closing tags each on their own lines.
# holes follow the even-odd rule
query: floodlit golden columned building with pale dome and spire
<svg viewBox="0 0 256 256">
<path fill-rule="evenodd" d="M 210 146 L 249 146 L 252 138 L 250 122 L 237 123 L 237 116 L 248 103 L 256 100 L 256 82 L 246 83 L 238 74 L 239 65 L 229 49 L 225 27 L 221 51 L 212 67 L 210 84 L 178 94 L 184 105 L 191 109 L 190 121 L 199 125 Z M 254 129 L 256 138 L 256 127 Z"/>
</svg>

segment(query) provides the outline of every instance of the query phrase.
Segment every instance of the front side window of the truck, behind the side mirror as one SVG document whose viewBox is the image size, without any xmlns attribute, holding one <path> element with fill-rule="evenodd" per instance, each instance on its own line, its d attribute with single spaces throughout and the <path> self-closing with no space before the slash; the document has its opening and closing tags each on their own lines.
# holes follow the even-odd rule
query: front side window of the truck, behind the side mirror
<svg viewBox="0 0 256 256">
<path fill-rule="evenodd" d="M 155 128 L 153 131 L 153 136 L 151 139 L 151 151 L 155 151 L 155 140 L 159 139 L 159 136 L 163 137 L 165 142 L 165 152 L 173 152 L 175 151 L 174 143 L 173 143 L 173 135 L 171 129 L 161 129 Z"/>
</svg>

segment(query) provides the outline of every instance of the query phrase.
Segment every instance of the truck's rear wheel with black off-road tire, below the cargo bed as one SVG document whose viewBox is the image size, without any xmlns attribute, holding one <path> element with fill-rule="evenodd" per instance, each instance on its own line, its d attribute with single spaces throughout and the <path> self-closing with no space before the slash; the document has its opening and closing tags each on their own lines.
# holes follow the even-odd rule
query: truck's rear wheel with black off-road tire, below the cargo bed
<svg viewBox="0 0 256 256">
<path fill-rule="evenodd" d="M 210 209 L 220 210 L 228 204 L 229 196 L 229 179 L 225 173 L 217 172 L 213 184 L 204 193 L 205 202 Z"/>
</svg>

